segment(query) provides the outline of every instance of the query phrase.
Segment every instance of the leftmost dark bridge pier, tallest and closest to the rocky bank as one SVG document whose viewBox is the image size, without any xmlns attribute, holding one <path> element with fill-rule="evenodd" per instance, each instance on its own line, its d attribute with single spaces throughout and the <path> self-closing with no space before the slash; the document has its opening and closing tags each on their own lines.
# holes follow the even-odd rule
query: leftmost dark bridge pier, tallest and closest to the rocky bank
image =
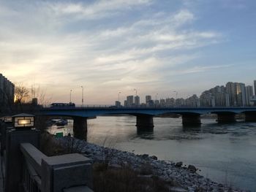
<svg viewBox="0 0 256 192">
<path fill-rule="evenodd" d="M 73 123 L 73 133 L 74 137 L 77 139 L 86 139 L 87 136 L 87 118 L 83 117 L 72 117 Z"/>
</svg>

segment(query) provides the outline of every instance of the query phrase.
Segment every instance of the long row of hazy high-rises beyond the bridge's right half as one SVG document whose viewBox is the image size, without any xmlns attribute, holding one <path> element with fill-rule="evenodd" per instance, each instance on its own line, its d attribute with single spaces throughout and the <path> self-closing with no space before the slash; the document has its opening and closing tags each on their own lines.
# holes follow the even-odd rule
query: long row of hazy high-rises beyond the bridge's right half
<svg viewBox="0 0 256 192">
<path fill-rule="evenodd" d="M 245 107 L 255 105 L 256 80 L 254 80 L 255 88 L 252 85 L 245 85 L 243 82 L 227 82 L 225 85 L 216 85 L 206 91 L 187 96 L 187 98 L 176 97 L 157 98 L 155 96 L 146 95 L 145 102 L 140 103 L 140 96 L 130 95 L 124 99 L 124 107 Z M 116 101 L 116 107 L 122 105 L 119 97 Z"/>
</svg>

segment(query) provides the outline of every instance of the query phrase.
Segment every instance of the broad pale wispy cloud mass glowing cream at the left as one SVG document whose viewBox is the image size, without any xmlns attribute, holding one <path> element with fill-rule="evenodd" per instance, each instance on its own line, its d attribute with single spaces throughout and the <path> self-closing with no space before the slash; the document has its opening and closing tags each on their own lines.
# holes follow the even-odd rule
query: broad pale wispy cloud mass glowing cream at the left
<svg viewBox="0 0 256 192">
<path fill-rule="evenodd" d="M 166 85 L 175 72 L 210 70 L 182 65 L 199 58 L 200 47 L 221 42 L 222 34 L 194 28 L 197 17 L 189 9 L 160 11 L 155 4 L 147 0 L 1 4 L 0 19 L 9 18 L 0 28 L 2 72 L 14 81 L 34 82 L 29 77 L 36 77 L 42 88 L 48 86 L 53 99 L 64 101 L 65 91 L 84 84 L 93 100 L 95 91 L 102 95 L 124 89 L 125 94 L 141 86 L 141 93 L 146 93 Z M 182 69 L 177 71 L 176 66 Z"/>
</svg>

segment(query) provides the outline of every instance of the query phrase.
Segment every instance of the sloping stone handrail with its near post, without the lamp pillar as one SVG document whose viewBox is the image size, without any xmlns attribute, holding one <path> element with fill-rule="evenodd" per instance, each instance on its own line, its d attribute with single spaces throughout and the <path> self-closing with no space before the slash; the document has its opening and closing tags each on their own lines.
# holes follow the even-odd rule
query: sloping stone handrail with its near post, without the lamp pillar
<svg viewBox="0 0 256 192">
<path fill-rule="evenodd" d="M 80 154 L 48 157 L 30 143 L 20 144 L 23 154 L 22 186 L 24 191 L 80 191 L 92 187 L 91 160 Z"/>
</svg>

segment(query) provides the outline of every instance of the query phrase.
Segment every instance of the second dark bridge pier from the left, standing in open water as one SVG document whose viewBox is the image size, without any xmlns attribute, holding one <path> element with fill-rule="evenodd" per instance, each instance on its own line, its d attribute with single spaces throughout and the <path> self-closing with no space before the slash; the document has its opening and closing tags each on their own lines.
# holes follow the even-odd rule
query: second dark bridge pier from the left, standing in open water
<svg viewBox="0 0 256 192">
<path fill-rule="evenodd" d="M 153 131 L 153 115 L 136 115 L 137 131 Z"/>
</svg>

